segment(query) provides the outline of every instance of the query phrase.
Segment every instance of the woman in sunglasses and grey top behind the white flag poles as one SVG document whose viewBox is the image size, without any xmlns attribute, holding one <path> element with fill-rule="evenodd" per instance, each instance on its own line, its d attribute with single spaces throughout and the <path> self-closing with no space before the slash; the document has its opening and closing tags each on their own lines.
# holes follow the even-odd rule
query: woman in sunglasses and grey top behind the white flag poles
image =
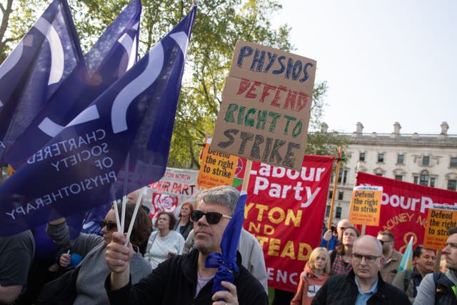
<svg viewBox="0 0 457 305">
<path fill-rule="evenodd" d="M 118 204 L 119 214 L 121 204 Z M 126 205 L 125 230 L 129 229 L 131 216 L 134 214 L 135 205 Z M 64 246 L 71 252 L 81 254 L 84 257 L 79 264 L 80 269 L 76 279 L 76 299 L 74 304 L 109 304 L 104 283 L 106 276 L 110 274 L 105 263 L 106 246 L 111 242 L 111 235 L 117 230 L 116 215 L 111 208 L 101 221 L 103 236 L 96 234 L 80 234 L 75 240 L 69 239 L 69 228 L 65 219 L 57 219 L 49 222 L 46 233 L 51 236 L 56 244 Z M 119 218 L 121 216 L 119 215 Z M 151 220 L 143 209 L 138 210 L 134 226 L 130 236 L 130 242 L 134 248 L 130 262 L 131 281 L 137 283 L 146 278 L 152 269 L 138 252 L 139 244 L 142 244 L 151 234 Z"/>
</svg>

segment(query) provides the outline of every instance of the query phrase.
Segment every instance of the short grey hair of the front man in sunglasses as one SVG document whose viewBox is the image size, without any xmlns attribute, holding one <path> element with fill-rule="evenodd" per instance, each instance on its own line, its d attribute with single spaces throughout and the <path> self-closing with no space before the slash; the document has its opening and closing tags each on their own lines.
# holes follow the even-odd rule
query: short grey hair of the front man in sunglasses
<svg viewBox="0 0 457 305">
<path fill-rule="evenodd" d="M 215 186 L 211 189 L 205 189 L 201 191 L 197 198 L 204 201 L 205 204 L 219 204 L 226 206 L 230 210 L 230 215 L 235 214 L 236 204 L 238 204 L 238 198 L 240 192 L 232 186 Z M 198 208 L 198 206 L 197 206 Z"/>
</svg>

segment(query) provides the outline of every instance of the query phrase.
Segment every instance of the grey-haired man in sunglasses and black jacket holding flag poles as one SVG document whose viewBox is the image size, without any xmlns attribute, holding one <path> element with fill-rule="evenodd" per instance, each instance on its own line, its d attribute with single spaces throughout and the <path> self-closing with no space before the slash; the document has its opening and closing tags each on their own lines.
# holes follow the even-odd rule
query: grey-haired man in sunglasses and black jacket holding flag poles
<svg viewBox="0 0 457 305">
<path fill-rule="evenodd" d="M 111 304 L 268 304 L 261 284 L 241 265 L 233 274 L 233 284 L 222 281 L 227 291 L 213 294 L 213 278 L 217 269 L 205 266 L 206 257 L 221 253 L 221 237 L 233 216 L 239 193 L 230 186 L 216 186 L 197 196 L 198 209 L 191 214 L 194 221 L 196 249 L 189 254 L 173 256 L 159 264 L 139 284 L 131 285 L 129 246 L 122 234 L 113 234 L 106 251 L 106 264 L 111 269 L 105 288 Z"/>
</svg>

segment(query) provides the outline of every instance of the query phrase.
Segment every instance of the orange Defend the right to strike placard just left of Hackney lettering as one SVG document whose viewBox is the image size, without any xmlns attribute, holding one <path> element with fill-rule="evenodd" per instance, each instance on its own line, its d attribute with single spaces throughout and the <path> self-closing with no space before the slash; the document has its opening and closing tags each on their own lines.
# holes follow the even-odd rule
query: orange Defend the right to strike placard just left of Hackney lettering
<svg viewBox="0 0 457 305">
<path fill-rule="evenodd" d="M 378 226 L 382 195 L 382 186 L 354 187 L 349 209 L 349 221 L 353 224 Z"/>
</svg>

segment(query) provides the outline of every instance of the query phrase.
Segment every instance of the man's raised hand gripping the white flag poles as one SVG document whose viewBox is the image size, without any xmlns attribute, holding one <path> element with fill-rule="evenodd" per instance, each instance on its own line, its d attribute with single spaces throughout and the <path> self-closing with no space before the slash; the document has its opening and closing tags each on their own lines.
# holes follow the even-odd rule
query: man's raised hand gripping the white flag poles
<svg viewBox="0 0 457 305">
<path fill-rule="evenodd" d="M 114 232 L 111 243 L 106 246 L 106 265 L 116 274 L 126 271 L 130 264 L 130 259 L 134 255 L 131 244 L 129 243 L 129 246 L 125 245 L 126 235 L 126 233 Z"/>
</svg>

